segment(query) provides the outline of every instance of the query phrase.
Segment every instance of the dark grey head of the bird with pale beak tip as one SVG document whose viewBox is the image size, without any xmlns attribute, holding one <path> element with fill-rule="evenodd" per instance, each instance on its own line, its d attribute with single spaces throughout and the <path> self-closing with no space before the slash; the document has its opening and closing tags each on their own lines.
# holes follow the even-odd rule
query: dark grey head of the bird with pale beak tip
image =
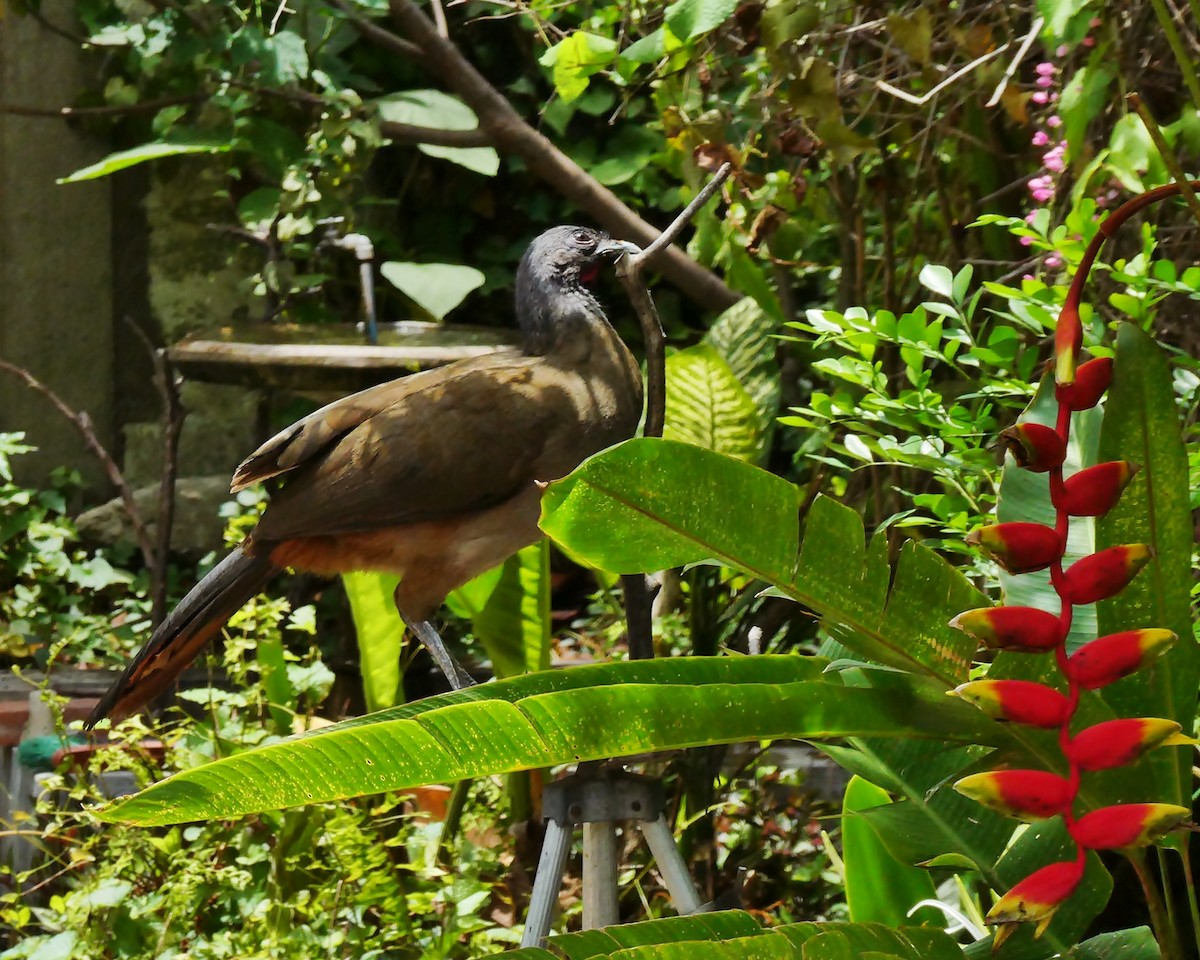
<svg viewBox="0 0 1200 960">
<path fill-rule="evenodd" d="M 605 263 L 637 251 L 636 245 L 589 227 L 552 227 L 538 236 L 517 269 L 517 322 L 526 332 L 527 348 L 541 350 L 568 335 L 560 328 L 570 317 L 604 318 L 587 284 Z"/>
</svg>

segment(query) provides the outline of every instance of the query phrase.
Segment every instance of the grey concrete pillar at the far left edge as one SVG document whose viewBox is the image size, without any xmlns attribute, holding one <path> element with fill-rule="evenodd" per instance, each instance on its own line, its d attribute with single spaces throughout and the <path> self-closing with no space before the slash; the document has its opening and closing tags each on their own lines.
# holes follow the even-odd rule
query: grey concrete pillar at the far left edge
<svg viewBox="0 0 1200 960">
<path fill-rule="evenodd" d="M 67 0 L 43 16 L 72 32 Z M 7 104 L 56 109 L 94 83 L 92 65 L 70 40 L 0 7 L 0 95 Z M 86 410 L 112 448 L 112 188 L 108 180 L 59 186 L 109 145 L 61 119 L 0 113 L 0 358 L 26 367 L 66 403 Z M 74 428 L 41 396 L 0 374 L 0 431 L 24 430 L 38 454 L 18 467 L 31 482 L 56 466 L 104 485 Z"/>
</svg>

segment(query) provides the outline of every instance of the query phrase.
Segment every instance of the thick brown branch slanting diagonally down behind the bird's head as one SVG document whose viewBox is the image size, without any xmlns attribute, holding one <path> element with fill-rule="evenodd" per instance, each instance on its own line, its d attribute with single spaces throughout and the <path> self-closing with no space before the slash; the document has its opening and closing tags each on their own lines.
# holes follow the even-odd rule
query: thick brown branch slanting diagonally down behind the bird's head
<svg viewBox="0 0 1200 960">
<path fill-rule="evenodd" d="M 344 0 L 330 2 L 346 10 Z M 475 112 L 480 128 L 498 150 L 520 156 L 530 173 L 554 187 L 614 236 L 649 244 L 659 235 L 653 224 L 634 214 L 617 194 L 596 182 L 575 161 L 529 126 L 458 48 L 438 35 L 430 18 L 412 0 L 390 0 L 389 7 L 402 32 L 422 52 L 422 64 Z M 361 22 L 361 17 L 356 14 L 350 16 L 364 36 L 395 48 L 394 41 L 398 37 L 374 24 Z M 390 38 L 385 41 L 382 34 L 388 34 Z M 658 266 L 683 293 L 706 307 L 724 310 L 738 300 L 738 295 L 720 277 L 678 248 L 670 247 Z"/>
</svg>

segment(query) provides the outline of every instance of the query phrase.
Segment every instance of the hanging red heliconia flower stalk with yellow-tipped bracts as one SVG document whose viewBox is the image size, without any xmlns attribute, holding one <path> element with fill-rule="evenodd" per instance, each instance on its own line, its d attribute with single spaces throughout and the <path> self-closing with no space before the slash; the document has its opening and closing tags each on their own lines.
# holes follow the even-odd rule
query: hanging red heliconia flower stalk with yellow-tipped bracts
<svg viewBox="0 0 1200 960">
<path fill-rule="evenodd" d="M 1020 820 L 1062 817 L 1075 845 L 1073 857 L 1036 870 L 996 901 L 986 916 L 986 922 L 997 928 L 994 949 L 1020 924 L 1033 924 L 1036 937 L 1045 931 L 1057 910 L 1079 888 L 1088 850 L 1120 850 L 1138 860 L 1139 847 L 1177 829 L 1189 816 L 1186 808 L 1166 803 L 1118 804 L 1078 815 L 1085 773 L 1130 764 L 1150 750 L 1195 740 L 1184 736 L 1177 722 L 1162 718 L 1122 718 L 1074 728 L 1084 690 L 1098 690 L 1145 668 L 1175 643 L 1176 636 L 1146 625 L 1099 637 L 1068 655 L 1067 637 L 1075 606 L 1120 593 L 1153 558 L 1153 550 L 1146 544 L 1123 544 L 1063 565 L 1072 517 L 1097 517 L 1110 511 L 1138 472 L 1134 463 L 1112 461 L 1069 478 L 1063 474 L 1072 414 L 1099 403 L 1112 376 L 1112 361 L 1106 358 L 1079 361 L 1084 283 L 1105 240 L 1129 216 L 1177 193 L 1176 184 L 1148 191 L 1123 204 L 1100 224 L 1072 280 L 1055 330 L 1055 424 L 1052 427 L 1018 424 L 1001 437 L 1019 468 L 1048 475 L 1054 526 L 997 523 L 967 536 L 968 544 L 980 547 L 1010 574 L 1049 569 L 1058 610 L 985 607 L 960 613 L 952 625 L 991 649 L 1052 655 L 1066 688 L 1063 692 L 1045 684 L 984 679 L 952 691 L 997 720 L 1057 730 L 1066 769 L 1064 776 L 1044 770 L 992 770 L 972 774 L 954 785 L 978 803 Z M 1153 895 L 1157 898 L 1157 890 Z M 1160 907 L 1162 901 L 1157 902 Z M 1151 906 L 1152 914 L 1160 913 L 1153 910 L 1154 904 Z M 1163 943 L 1166 930 L 1157 916 L 1152 920 Z"/>
</svg>

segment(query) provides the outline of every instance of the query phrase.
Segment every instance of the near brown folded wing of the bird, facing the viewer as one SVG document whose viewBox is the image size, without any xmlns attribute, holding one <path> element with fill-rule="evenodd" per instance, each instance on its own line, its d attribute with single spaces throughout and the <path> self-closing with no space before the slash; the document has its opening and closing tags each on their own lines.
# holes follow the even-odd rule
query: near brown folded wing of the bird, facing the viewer
<svg viewBox="0 0 1200 960">
<path fill-rule="evenodd" d="M 503 503 L 534 480 L 557 479 L 539 473 L 554 470 L 547 448 L 562 460 L 575 404 L 556 390 L 539 358 L 488 359 L 455 365 L 422 389 L 391 396 L 308 454 L 272 497 L 256 539 L 439 520 Z"/>
</svg>

